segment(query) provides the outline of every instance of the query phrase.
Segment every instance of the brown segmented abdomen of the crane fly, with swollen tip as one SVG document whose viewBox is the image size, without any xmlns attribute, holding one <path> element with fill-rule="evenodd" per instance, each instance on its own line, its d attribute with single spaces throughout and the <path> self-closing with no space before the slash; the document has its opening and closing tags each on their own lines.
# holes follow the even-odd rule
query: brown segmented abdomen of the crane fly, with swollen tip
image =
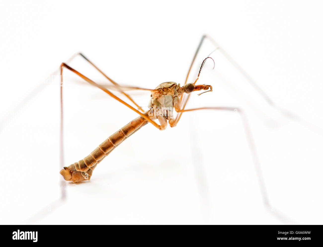
<svg viewBox="0 0 323 247">
<path fill-rule="evenodd" d="M 145 112 L 147 115 L 148 112 Z M 67 181 L 79 182 L 89 180 L 92 176 L 92 171 L 101 160 L 106 157 L 115 147 L 123 142 L 127 137 L 132 135 L 148 121 L 141 116 L 133 119 L 130 123 L 120 128 L 117 132 L 108 137 L 96 149 L 94 149 L 87 157 L 81 159 L 74 164 L 64 167 L 59 173 Z"/>
</svg>

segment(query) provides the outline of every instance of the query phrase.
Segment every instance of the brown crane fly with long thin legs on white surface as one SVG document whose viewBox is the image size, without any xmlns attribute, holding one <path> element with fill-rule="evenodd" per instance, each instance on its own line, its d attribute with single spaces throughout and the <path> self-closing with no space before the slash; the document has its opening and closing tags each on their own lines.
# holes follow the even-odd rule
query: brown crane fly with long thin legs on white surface
<svg viewBox="0 0 323 247">
<path fill-rule="evenodd" d="M 232 111 L 232 112 L 238 112 L 241 115 L 241 119 L 243 122 L 243 126 L 245 129 L 247 142 L 253 157 L 253 162 L 255 164 L 255 170 L 258 176 L 259 186 L 261 189 L 263 202 L 265 206 L 271 210 L 271 205 L 269 204 L 268 196 L 266 195 L 266 187 L 262 178 L 262 172 L 260 168 L 259 159 L 255 150 L 255 143 L 251 134 L 251 129 L 248 124 L 248 120 L 243 112 L 242 109 L 238 107 L 200 107 L 200 108 L 193 108 L 193 109 L 186 109 L 187 101 L 189 100 L 190 95 L 194 91 L 201 91 L 205 90 L 202 93 L 205 92 L 212 92 L 212 85 L 206 85 L 206 84 L 200 84 L 196 85 L 196 82 L 199 79 L 200 73 L 202 71 L 203 65 L 207 59 L 212 59 L 211 57 L 207 56 L 201 66 L 200 70 L 198 72 L 197 78 L 194 82 L 190 83 L 188 82 L 188 78 L 193 66 L 193 63 L 195 62 L 196 56 L 203 44 L 204 39 L 206 39 L 206 36 L 204 35 L 195 51 L 193 60 L 191 62 L 189 71 L 186 76 L 186 80 L 183 86 L 180 86 L 180 84 L 177 84 L 175 82 L 164 82 L 161 83 L 159 86 L 157 86 L 155 89 L 144 89 L 144 88 L 133 88 L 133 89 L 142 89 L 142 90 L 149 90 L 151 91 L 151 99 L 149 101 L 148 107 L 150 108 L 148 111 L 143 111 L 139 104 L 137 104 L 126 92 L 122 91 L 122 88 L 119 84 L 117 84 L 115 81 L 113 81 L 111 78 L 109 78 L 103 71 L 101 71 L 93 62 L 91 62 L 87 57 L 85 57 L 82 53 L 79 53 L 81 57 L 83 57 L 87 62 L 89 62 L 94 68 L 96 68 L 106 79 L 108 79 L 119 92 L 121 92 L 124 96 L 126 96 L 138 109 L 135 109 L 133 106 L 129 105 L 125 101 L 121 100 L 119 97 L 117 97 L 115 94 L 113 94 L 111 91 L 109 91 L 104 86 L 97 84 L 96 82 L 92 81 L 79 71 L 73 69 L 66 63 L 62 63 L 60 66 L 60 74 L 61 74 L 61 85 L 63 84 L 63 68 L 68 69 L 69 71 L 72 71 L 73 73 L 77 74 L 79 77 L 81 77 L 83 80 L 87 81 L 89 84 L 103 90 L 107 94 L 109 94 L 111 97 L 113 97 L 115 100 L 118 100 L 128 108 L 132 109 L 133 111 L 137 112 L 140 116 L 136 119 L 133 119 L 130 121 L 127 125 L 120 128 L 118 131 L 116 131 L 114 134 L 109 136 L 104 142 L 102 142 L 95 150 L 93 150 L 88 156 L 85 158 L 79 160 L 78 162 L 75 162 L 71 164 L 70 166 L 65 166 L 64 169 L 60 171 L 60 174 L 64 177 L 67 181 L 72 182 L 80 182 L 83 180 L 89 180 L 92 176 L 94 168 L 99 164 L 104 157 L 109 155 L 109 153 L 115 149 L 118 145 L 120 145 L 126 138 L 130 137 L 134 132 L 139 130 L 141 127 L 146 125 L 147 123 L 153 124 L 156 128 L 160 130 L 165 130 L 167 126 L 167 121 L 170 125 L 170 127 L 175 127 L 178 123 L 178 121 L 181 119 L 182 113 L 187 111 L 196 111 L 196 110 L 202 110 L 202 109 L 210 109 L 210 110 L 221 110 L 221 111 Z M 211 38 L 209 38 L 211 39 Z M 211 39 L 211 41 L 213 41 Z M 221 50 L 219 45 L 213 41 L 215 45 L 215 51 Z M 237 64 L 231 59 L 231 57 L 226 54 L 226 52 L 222 51 L 226 58 L 237 67 L 240 72 L 248 78 L 248 75 L 239 68 Z M 213 59 L 212 59 L 213 60 Z M 213 60 L 214 62 L 214 60 Z M 215 63 L 214 63 L 215 66 Z M 258 85 L 252 81 L 250 78 L 248 78 L 251 85 L 269 102 L 271 103 L 269 97 L 258 87 Z M 201 95 L 200 93 L 199 95 Z M 186 97 L 184 97 L 184 94 L 187 94 Z M 62 87 L 61 87 L 61 97 L 62 97 Z M 62 100 L 61 100 L 62 104 Z M 272 103 L 271 103 L 272 104 Z M 156 114 L 156 109 L 158 110 L 158 114 Z M 61 105 L 61 109 L 63 109 Z M 167 109 L 165 111 L 165 109 Z M 177 112 L 175 118 L 172 118 L 173 114 Z M 62 117 L 61 117 L 62 118 Z M 160 125 L 158 125 L 153 120 L 158 119 Z M 63 121 L 63 118 L 62 120 Z M 61 126 L 63 126 L 63 123 L 61 122 Z M 62 136 L 61 136 L 62 139 Z M 62 141 L 61 141 L 62 142 Z M 61 147 L 63 147 L 63 143 L 61 143 Z M 62 157 L 62 150 L 61 150 L 61 157 Z"/>
</svg>

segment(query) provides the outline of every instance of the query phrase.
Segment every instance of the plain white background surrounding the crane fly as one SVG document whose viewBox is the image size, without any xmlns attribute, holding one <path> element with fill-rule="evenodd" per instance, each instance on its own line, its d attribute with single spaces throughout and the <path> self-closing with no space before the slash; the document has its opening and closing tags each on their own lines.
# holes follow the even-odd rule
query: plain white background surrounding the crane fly
<svg viewBox="0 0 323 247">
<path fill-rule="evenodd" d="M 0 152 L 3 224 L 321 224 L 322 4 L 320 1 L 15 1 L 0 4 Z M 277 105 L 270 107 L 219 51 L 188 108 L 245 109 L 272 211 L 234 112 L 185 113 L 176 128 L 151 125 L 102 161 L 90 181 L 59 170 L 61 62 L 83 52 L 124 85 L 183 84 L 206 33 Z M 214 50 L 206 41 L 194 63 Z M 70 66 L 104 78 L 80 57 Z M 64 71 L 65 165 L 87 156 L 137 114 Z M 120 96 L 120 94 L 118 94 Z M 146 106 L 149 92 L 135 91 Z M 281 217 L 278 217 L 277 215 Z"/>
</svg>

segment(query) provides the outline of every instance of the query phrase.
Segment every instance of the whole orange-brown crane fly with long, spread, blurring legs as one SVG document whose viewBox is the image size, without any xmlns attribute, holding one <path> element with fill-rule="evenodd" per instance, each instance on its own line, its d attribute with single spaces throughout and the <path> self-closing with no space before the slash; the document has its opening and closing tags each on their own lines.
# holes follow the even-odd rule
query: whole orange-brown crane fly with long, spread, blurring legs
<svg viewBox="0 0 323 247">
<path fill-rule="evenodd" d="M 97 166 L 98 163 L 100 163 L 103 160 L 104 157 L 110 154 L 111 151 L 115 149 L 115 147 L 119 146 L 121 142 L 123 142 L 125 139 L 130 137 L 130 135 L 134 134 L 135 132 L 137 132 L 139 129 L 141 129 L 143 126 L 147 124 L 150 124 L 159 130 L 165 130 L 168 124 L 170 125 L 170 127 L 181 128 L 181 126 L 177 126 L 177 124 L 180 121 L 183 113 L 186 114 L 187 112 L 192 112 L 192 111 L 195 112 L 199 110 L 206 110 L 206 111 L 210 110 L 212 112 L 213 111 L 214 112 L 217 112 L 217 111 L 235 112 L 239 114 L 240 116 L 239 119 L 245 131 L 245 134 L 244 134 L 245 142 L 247 143 L 251 157 L 253 159 L 255 172 L 258 180 L 258 187 L 260 188 L 263 204 L 271 213 L 274 213 L 276 217 L 280 219 L 285 219 L 283 215 L 279 214 L 276 210 L 273 210 L 273 207 L 269 202 L 268 195 L 266 192 L 266 186 L 265 186 L 262 171 L 261 171 L 260 161 L 256 151 L 255 141 L 252 135 L 252 128 L 249 125 L 248 118 L 245 114 L 244 109 L 238 106 L 237 107 L 232 107 L 232 106 L 216 107 L 215 106 L 215 107 L 187 108 L 187 103 L 192 95 L 195 94 L 196 96 L 197 94 L 198 95 L 202 94 L 201 96 L 198 97 L 199 99 L 201 99 L 203 98 L 203 95 L 205 92 L 208 92 L 208 95 L 210 95 L 214 90 L 213 82 L 202 81 L 203 79 L 199 79 L 200 73 L 201 74 L 204 73 L 205 68 L 203 69 L 203 66 L 205 62 L 213 62 L 212 63 L 213 68 L 215 65 L 213 60 L 214 55 L 207 55 L 203 59 L 201 59 L 201 61 L 197 61 L 197 55 L 199 54 L 199 52 L 201 52 L 200 49 L 203 46 L 203 43 L 205 43 L 204 42 L 205 40 L 211 41 L 211 43 L 214 45 L 215 51 L 221 52 L 222 55 L 228 60 L 228 62 L 230 62 L 231 65 L 233 65 L 233 67 L 250 83 L 250 85 L 267 101 L 267 103 L 271 107 L 277 109 L 289 119 L 292 119 L 298 122 L 302 121 L 295 114 L 278 107 L 274 103 L 274 101 L 272 101 L 266 95 L 266 93 L 258 86 L 258 84 L 251 79 L 251 77 L 224 51 L 224 49 L 222 49 L 219 46 L 218 43 L 216 43 L 211 37 L 208 37 L 205 35 L 200 40 L 200 43 L 193 56 L 193 60 L 191 61 L 189 70 L 186 74 L 185 81 L 182 85 L 180 83 L 172 82 L 172 81 L 163 82 L 153 89 L 120 85 L 114 80 L 112 80 L 110 77 L 108 77 L 103 71 L 99 69 L 99 67 L 97 67 L 85 55 L 83 55 L 82 53 L 78 53 L 77 56 L 87 61 L 91 66 L 93 66 L 95 70 L 99 71 L 99 73 L 101 73 L 111 83 L 111 85 L 102 85 L 102 84 L 96 83 L 95 80 L 91 80 L 89 77 L 85 76 L 83 73 L 79 72 L 74 67 L 71 67 L 69 62 L 72 59 L 74 59 L 75 56 L 73 56 L 69 60 L 69 62 L 65 62 L 61 64 L 60 66 L 60 74 L 61 74 L 61 77 L 60 77 L 60 80 L 61 80 L 61 85 L 60 85 L 61 86 L 60 87 L 60 93 L 61 93 L 60 94 L 61 96 L 61 108 L 60 108 L 61 109 L 61 123 L 60 123 L 60 131 L 61 131 L 60 132 L 60 166 L 61 167 L 60 169 L 61 170 L 60 170 L 60 174 L 63 176 L 63 178 L 68 182 L 72 182 L 72 183 L 76 182 L 76 184 L 80 184 L 78 182 L 89 180 L 92 177 L 94 168 Z M 197 71 L 197 74 L 195 75 L 196 77 L 194 78 L 194 80 L 190 81 L 189 77 L 190 75 L 193 74 L 192 68 L 193 68 L 194 62 L 200 63 L 200 66 L 198 67 L 199 71 Z M 71 71 L 76 75 L 76 77 L 81 78 L 82 81 L 85 81 L 85 83 L 88 83 L 89 85 L 102 90 L 110 97 L 112 97 L 113 100 L 119 101 L 119 103 L 121 103 L 120 104 L 121 107 L 125 107 L 125 108 L 127 107 L 139 115 L 137 118 L 130 121 L 124 127 L 121 127 L 114 134 L 110 135 L 105 141 L 99 144 L 99 146 L 95 148 L 88 156 L 69 166 L 64 166 L 64 159 L 63 159 L 64 157 L 63 109 L 64 108 L 63 108 L 62 93 L 64 89 L 64 80 L 65 80 L 64 79 L 65 77 L 63 77 L 63 74 L 64 74 L 63 70 Z M 128 90 L 149 91 L 151 93 L 151 96 L 149 98 L 149 104 L 148 104 L 149 110 L 144 110 L 138 102 L 133 100 L 130 94 L 128 94 Z M 120 97 L 118 97 L 116 93 L 113 93 L 113 91 L 116 91 L 118 94 L 126 98 L 131 103 L 125 102 Z M 148 98 L 147 98 L 147 101 L 148 101 Z M 155 120 L 157 120 L 159 124 Z M 214 141 L 218 142 L 220 140 L 214 140 Z M 212 150 L 212 147 L 211 147 L 211 150 Z M 94 177 L 91 178 L 91 180 L 94 182 L 95 173 L 93 176 Z M 65 189 L 64 189 L 65 186 L 66 186 L 66 182 L 64 182 L 62 186 L 63 197 L 65 196 Z"/>
</svg>

